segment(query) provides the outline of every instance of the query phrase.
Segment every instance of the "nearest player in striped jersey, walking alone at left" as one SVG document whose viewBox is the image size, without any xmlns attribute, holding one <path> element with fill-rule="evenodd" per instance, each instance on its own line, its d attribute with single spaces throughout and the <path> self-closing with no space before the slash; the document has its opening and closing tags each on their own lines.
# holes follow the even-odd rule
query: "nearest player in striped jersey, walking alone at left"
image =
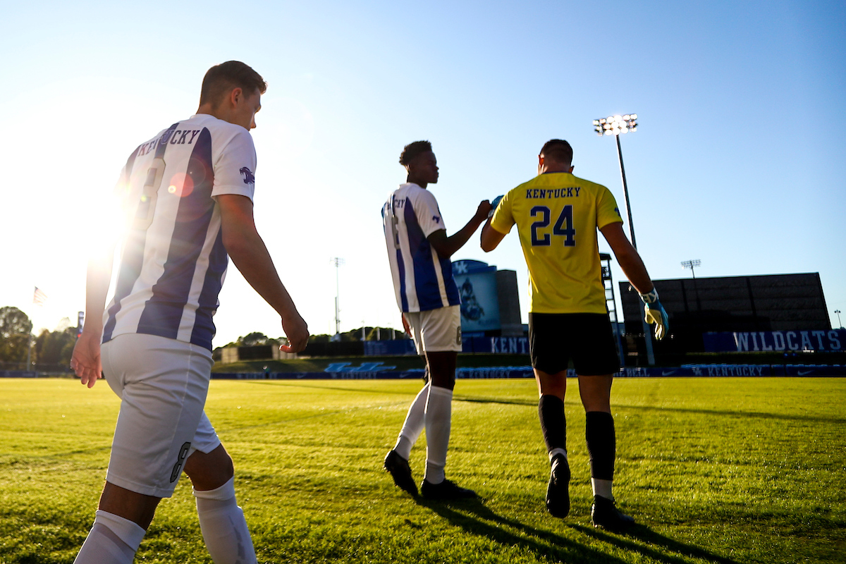
<svg viewBox="0 0 846 564">
<path fill-rule="evenodd" d="M 276 309 L 299 351 L 308 327 L 255 230 L 250 129 L 266 83 L 244 63 L 209 69 L 194 116 L 138 146 L 116 196 L 124 233 L 114 297 L 112 245 L 88 266 L 85 327 L 71 365 L 94 386 L 104 374 L 121 398 L 96 519 L 75 562 L 131 562 L 162 497 L 184 470 L 216 564 L 255 562 L 234 470 L 203 412 L 212 321 L 228 257 Z M 93 224 L 107 217 L 91 217 Z M 114 233 L 103 233 L 103 237 Z M 102 343 L 102 344 L 101 344 Z"/>
</svg>

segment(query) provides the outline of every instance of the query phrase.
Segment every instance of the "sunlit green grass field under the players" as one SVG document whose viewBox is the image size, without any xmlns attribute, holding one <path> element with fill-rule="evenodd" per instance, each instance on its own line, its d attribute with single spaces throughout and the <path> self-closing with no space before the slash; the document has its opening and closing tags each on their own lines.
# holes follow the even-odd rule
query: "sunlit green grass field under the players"
<svg viewBox="0 0 846 564">
<path fill-rule="evenodd" d="M 415 501 L 382 457 L 413 381 L 212 381 L 260 562 L 843 562 L 846 379 L 618 379 L 615 493 L 640 526 L 590 523 L 584 413 L 567 400 L 570 517 L 543 505 L 532 381 L 459 381 L 447 474 L 481 501 Z M 0 379 L 0 562 L 72 562 L 118 400 L 106 382 Z M 412 452 L 422 476 L 425 439 Z M 211 562 L 183 478 L 136 561 Z"/>
</svg>

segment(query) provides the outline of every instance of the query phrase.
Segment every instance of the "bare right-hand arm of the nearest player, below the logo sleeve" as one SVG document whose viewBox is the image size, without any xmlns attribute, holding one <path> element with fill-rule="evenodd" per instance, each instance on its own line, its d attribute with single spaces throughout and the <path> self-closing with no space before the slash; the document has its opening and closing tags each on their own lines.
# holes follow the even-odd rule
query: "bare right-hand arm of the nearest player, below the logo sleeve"
<svg viewBox="0 0 846 564">
<path fill-rule="evenodd" d="M 252 200 L 238 194 L 221 194 L 217 196 L 217 204 L 220 205 L 226 252 L 244 279 L 282 318 L 282 327 L 288 337 L 288 346 L 282 349 L 299 353 L 308 343 L 308 326 L 279 279 L 270 253 L 255 229 Z"/>
</svg>

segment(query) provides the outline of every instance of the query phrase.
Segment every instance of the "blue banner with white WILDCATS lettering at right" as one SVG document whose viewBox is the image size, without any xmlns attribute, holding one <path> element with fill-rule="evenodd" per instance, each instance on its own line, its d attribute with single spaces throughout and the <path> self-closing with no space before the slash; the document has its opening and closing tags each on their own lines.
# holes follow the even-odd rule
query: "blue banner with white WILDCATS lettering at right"
<svg viewBox="0 0 846 564">
<path fill-rule="evenodd" d="M 744 331 L 705 333 L 707 353 L 755 353 L 766 351 L 843 351 L 846 330 Z"/>
</svg>

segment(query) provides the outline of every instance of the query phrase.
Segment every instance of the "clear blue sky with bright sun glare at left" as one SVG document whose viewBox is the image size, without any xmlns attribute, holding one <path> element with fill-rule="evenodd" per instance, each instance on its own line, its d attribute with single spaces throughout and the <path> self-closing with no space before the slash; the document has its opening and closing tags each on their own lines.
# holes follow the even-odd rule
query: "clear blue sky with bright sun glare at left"
<svg viewBox="0 0 846 564">
<path fill-rule="evenodd" d="M 398 326 L 379 210 L 428 139 L 449 233 L 536 173 L 544 141 L 623 204 L 612 138 L 591 120 L 637 112 L 622 138 L 637 242 L 653 278 L 820 272 L 846 309 L 843 3 L 3 3 L 0 305 L 53 328 L 84 308 L 85 231 L 135 146 L 196 109 L 228 59 L 268 81 L 254 131 L 256 222 L 312 332 Z M 601 250 L 607 247 L 601 243 Z M 456 259 L 518 272 L 517 238 Z M 614 277 L 622 278 L 615 269 Z M 31 304 L 32 286 L 50 300 Z M 219 346 L 281 334 L 230 269 Z"/>
</svg>

